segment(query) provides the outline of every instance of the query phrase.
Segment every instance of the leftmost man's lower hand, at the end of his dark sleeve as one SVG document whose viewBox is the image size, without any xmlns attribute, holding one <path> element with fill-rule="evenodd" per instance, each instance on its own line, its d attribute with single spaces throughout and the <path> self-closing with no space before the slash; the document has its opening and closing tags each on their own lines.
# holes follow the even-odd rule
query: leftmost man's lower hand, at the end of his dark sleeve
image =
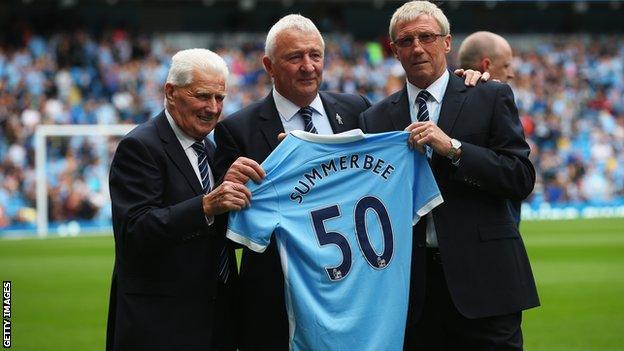
<svg viewBox="0 0 624 351">
<path fill-rule="evenodd" d="M 249 206 L 251 192 L 243 184 L 224 181 L 202 199 L 204 214 L 216 216 L 228 211 L 238 211 Z"/>
</svg>

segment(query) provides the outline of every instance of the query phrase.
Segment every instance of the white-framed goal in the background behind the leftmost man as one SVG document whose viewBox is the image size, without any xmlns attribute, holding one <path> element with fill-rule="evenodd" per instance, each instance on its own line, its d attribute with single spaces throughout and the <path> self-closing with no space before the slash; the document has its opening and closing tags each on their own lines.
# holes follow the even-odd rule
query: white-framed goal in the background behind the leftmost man
<svg viewBox="0 0 624 351">
<path fill-rule="evenodd" d="M 35 131 L 37 235 L 111 231 L 108 170 L 135 126 L 39 125 Z"/>
</svg>

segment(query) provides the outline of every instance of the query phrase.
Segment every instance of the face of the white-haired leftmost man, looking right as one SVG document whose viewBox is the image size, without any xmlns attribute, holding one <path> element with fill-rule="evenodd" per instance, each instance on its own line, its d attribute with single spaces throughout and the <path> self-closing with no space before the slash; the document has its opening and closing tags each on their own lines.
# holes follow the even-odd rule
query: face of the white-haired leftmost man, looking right
<svg viewBox="0 0 624 351">
<path fill-rule="evenodd" d="M 194 70 L 191 84 L 165 84 L 165 97 L 178 127 L 196 140 L 203 139 L 214 129 L 223 110 L 225 78 Z"/>
</svg>

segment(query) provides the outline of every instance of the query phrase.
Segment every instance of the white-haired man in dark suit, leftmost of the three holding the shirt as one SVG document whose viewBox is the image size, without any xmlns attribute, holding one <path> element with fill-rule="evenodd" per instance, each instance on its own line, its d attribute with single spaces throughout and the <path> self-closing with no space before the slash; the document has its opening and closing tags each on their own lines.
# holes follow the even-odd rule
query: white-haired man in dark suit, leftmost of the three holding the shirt
<svg viewBox="0 0 624 351">
<path fill-rule="evenodd" d="M 234 162 L 212 171 L 228 69 L 215 53 L 173 56 L 165 110 L 128 133 L 110 171 L 115 268 L 107 350 L 235 350 L 237 272 L 215 216 L 249 205 L 240 183 L 264 175 Z"/>
</svg>

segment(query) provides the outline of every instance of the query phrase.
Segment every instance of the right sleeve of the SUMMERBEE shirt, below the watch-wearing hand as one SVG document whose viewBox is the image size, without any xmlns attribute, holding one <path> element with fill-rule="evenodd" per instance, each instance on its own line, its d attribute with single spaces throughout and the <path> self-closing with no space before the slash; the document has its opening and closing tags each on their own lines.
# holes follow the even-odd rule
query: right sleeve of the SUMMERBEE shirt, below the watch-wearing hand
<svg viewBox="0 0 624 351">
<path fill-rule="evenodd" d="M 414 189 L 412 198 L 414 216 L 412 224 L 415 225 L 421 217 L 431 212 L 444 200 L 426 156 L 414 151 L 412 153 L 414 154 Z"/>
</svg>

